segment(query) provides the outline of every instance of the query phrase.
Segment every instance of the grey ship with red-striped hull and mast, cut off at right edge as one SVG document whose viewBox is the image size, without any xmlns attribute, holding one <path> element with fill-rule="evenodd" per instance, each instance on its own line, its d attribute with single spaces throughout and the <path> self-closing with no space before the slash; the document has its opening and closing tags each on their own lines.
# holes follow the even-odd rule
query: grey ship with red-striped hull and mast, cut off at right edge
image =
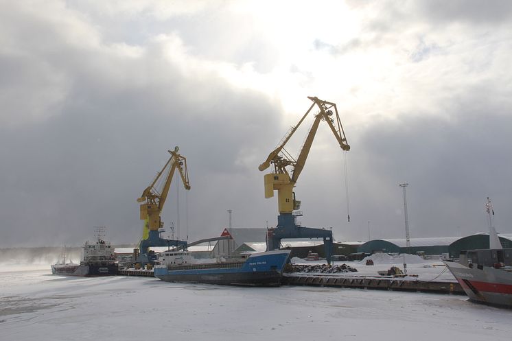
<svg viewBox="0 0 512 341">
<path fill-rule="evenodd" d="M 445 261 L 469 299 L 478 303 L 512 308 L 512 248 L 502 248 L 487 198 L 489 249 L 463 250 L 458 263 Z"/>
</svg>

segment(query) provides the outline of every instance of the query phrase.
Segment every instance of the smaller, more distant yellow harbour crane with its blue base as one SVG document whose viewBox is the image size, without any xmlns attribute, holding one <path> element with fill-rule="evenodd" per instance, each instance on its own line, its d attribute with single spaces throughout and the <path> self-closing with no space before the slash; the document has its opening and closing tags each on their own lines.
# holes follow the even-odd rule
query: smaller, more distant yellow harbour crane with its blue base
<svg viewBox="0 0 512 341">
<path fill-rule="evenodd" d="M 137 199 L 137 202 L 141 202 L 140 217 L 144 221 L 142 239 L 139 244 L 140 255 L 139 259 L 137 259 L 137 262 L 141 263 L 141 265 L 152 263 L 153 261 L 152 257 L 148 255 L 148 248 L 150 246 L 187 248 L 187 242 L 184 240 L 163 239 L 160 237 L 159 228 L 163 227 L 161 212 L 176 169 L 178 169 L 185 189 L 190 189 L 187 159 L 178 154 L 178 147 L 175 147 L 174 151 L 168 150 L 167 152 L 171 154 L 169 160 L 167 160 L 162 170 L 156 174 L 152 183 L 144 189 L 141 197 Z M 164 171 L 167 168 L 169 172 L 165 175 Z M 159 180 L 161 181 L 159 182 Z M 156 183 L 161 183 L 162 180 L 163 186 L 159 190 L 156 188 Z"/>
</svg>

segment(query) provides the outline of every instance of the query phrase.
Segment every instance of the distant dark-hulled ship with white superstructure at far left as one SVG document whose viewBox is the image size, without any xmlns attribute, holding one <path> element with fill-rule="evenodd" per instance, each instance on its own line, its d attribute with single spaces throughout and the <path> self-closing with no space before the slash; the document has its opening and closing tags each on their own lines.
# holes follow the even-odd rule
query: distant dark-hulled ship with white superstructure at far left
<svg viewBox="0 0 512 341">
<path fill-rule="evenodd" d="M 71 276 L 111 276 L 117 274 L 117 262 L 110 243 L 104 240 L 104 227 L 95 229 L 97 240 L 94 244 L 85 242 L 80 264 L 66 263 L 65 258 L 51 265 L 52 274 Z"/>
</svg>

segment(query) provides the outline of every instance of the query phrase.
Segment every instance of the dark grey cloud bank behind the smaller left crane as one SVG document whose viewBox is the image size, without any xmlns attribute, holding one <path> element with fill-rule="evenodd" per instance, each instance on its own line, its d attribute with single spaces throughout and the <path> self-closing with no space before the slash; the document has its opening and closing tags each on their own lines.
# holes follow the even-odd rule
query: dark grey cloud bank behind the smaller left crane
<svg viewBox="0 0 512 341">
<path fill-rule="evenodd" d="M 182 84 L 201 94 L 200 86 Z M 213 84 L 216 89 L 211 91 L 222 97 L 222 84 Z M 100 84 L 97 90 L 102 91 Z M 2 242 L 72 244 L 89 235 L 93 225 L 108 226 L 116 242 L 136 242 L 141 223 L 135 199 L 174 145 L 189 160 L 189 210 L 198 227 L 193 235 L 218 233 L 224 220 L 211 219 L 211 211 L 224 213 L 229 204 L 247 198 L 246 179 L 240 176 L 246 166 L 234 165 L 238 153 L 265 139 L 267 125 L 276 122 L 265 99 L 224 91 L 229 96 L 222 108 L 209 108 L 210 117 L 193 102 L 170 95 L 170 105 L 155 99 L 150 89 L 139 89 L 137 94 L 111 94 L 110 102 L 89 93 L 82 98 L 89 104 L 69 103 L 47 121 L 3 129 Z M 230 193 L 224 187 L 236 188 L 231 193 L 236 197 L 224 197 Z M 175 202 L 169 202 L 172 210 Z"/>
</svg>

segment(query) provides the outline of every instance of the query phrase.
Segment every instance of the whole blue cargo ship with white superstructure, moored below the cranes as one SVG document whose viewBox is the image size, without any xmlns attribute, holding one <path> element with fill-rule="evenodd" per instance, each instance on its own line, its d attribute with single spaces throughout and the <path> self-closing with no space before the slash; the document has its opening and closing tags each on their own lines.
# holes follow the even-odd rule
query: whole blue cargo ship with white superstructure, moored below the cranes
<svg viewBox="0 0 512 341">
<path fill-rule="evenodd" d="M 240 258 L 199 260 L 188 251 L 159 254 L 154 277 L 167 282 L 193 282 L 224 285 L 281 285 L 283 267 L 290 250 L 273 250 Z"/>
</svg>

